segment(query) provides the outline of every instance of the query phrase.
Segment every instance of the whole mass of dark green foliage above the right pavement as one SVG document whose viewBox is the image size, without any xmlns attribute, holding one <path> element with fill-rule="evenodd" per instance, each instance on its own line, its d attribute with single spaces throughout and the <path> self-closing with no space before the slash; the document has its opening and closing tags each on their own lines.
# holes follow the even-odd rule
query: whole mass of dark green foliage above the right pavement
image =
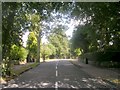
<svg viewBox="0 0 120 90">
<path fill-rule="evenodd" d="M 72 48 L 80 48 L 84 53 L 95 52 L 92 55 L 98 62 L 116 62 L 113 56 L 120 51 L 119 4 L 76 2 L 75 5 L 71 15 L 78 20 L 81 17 L 84 24 L 74 31 Z"/>
</svg>

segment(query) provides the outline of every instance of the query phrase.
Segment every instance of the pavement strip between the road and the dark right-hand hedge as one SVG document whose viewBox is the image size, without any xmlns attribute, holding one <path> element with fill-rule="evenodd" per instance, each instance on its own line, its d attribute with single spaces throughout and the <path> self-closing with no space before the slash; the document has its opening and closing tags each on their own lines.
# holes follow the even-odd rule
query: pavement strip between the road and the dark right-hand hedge
<svg viewBox="0 0 120 90">
<path fill-rule="evenodd" d="M 118 69 L 96 67 L 92 64 L 85 64 L 77 59 L 70 61 L 89 75 L 95 78 L 101 78 L 120 87 L 120 71 Z"/>
</svg>

